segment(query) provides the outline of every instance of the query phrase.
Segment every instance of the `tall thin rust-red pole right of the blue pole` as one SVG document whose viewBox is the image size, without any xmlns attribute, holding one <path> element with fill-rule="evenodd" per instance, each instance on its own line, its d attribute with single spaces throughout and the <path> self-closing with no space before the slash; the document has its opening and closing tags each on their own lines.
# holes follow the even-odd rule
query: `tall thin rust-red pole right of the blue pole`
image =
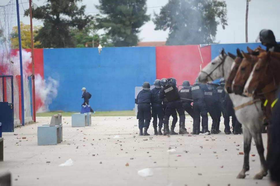
<svg viewBox="0 0 280 186">
<path fill-rule="evenodd" d="M 34 43 L 33 43 L 33 25 L 32 25 L 31 0 L 29 0 L 29 12 L 30 12 L 29 15 L 30 15 L 30 34 L 31 34 L 31 57 L 32 57 L 32 106 L 33 106 L 33 121 L 36 122 Z"/>
</svg>

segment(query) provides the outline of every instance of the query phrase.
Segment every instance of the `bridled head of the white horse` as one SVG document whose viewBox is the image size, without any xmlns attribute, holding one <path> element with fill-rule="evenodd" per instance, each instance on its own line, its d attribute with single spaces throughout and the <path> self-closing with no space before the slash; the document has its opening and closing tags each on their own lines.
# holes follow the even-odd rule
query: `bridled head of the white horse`
<svg viewBox="0 0 280 186">
<path fill-rule="evenodd" d="M 208 63 L 199 73 L 201 83 L 213 81 L 218 78 L 227 78 L 234 59 L 229 57 L 223 49 L 220 54 Z"/>
</svg>

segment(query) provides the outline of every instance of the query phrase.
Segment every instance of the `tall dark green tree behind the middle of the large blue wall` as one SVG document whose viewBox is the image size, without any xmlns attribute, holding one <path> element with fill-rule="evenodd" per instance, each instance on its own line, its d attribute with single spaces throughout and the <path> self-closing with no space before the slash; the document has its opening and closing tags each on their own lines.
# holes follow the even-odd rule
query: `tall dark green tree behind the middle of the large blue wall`
<svg viewBox="0 0 280 186">
<path fill-rule="evenodd" d="M 96 8 L 106 17 L 97 18 L 114 46 L 137 46 L 140 28 L 150 20 L 147 0 L 99 0 Z"/>
</svg>

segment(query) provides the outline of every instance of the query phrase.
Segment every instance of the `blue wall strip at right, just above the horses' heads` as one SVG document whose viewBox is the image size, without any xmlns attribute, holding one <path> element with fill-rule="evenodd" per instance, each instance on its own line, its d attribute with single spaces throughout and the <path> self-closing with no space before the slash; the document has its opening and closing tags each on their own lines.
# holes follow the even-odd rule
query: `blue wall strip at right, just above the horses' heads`
<svg viewBox="0 0 280 186">
<path fill-rule="evenodd" d="M 249 48 L 252 50 L 258 46 L 264 48 L 261 43 L 213 44 L 211 45 L 211 59 L 214 59 L 216 56 L 218 56 L 223 48 L 225 49 L 225 52 L 230 52 L 236 55 L 237 48 L 243 50 L 244 52 L 248 52 L 247 46 L 249 46 Z"/>
</svg>

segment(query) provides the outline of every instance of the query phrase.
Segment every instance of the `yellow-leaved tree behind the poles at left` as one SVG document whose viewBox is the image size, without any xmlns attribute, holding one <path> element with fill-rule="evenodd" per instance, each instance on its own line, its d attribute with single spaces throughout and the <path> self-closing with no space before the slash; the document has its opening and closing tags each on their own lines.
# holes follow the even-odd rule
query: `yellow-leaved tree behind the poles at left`
<svg viewBox="0 0 280 186">
<path fill-rule="evenodd" d="M 41 27 L 33 27 L 33 37 L 38 35 L 38 31 Z M 31 48 L 31 34 L 30 34 L 30 25 L 25 25 L 23 22 L 20 22 L 20 36 L 21 36 L 21 47 L 22 48 Z M 11 45 L 12 48 L 18 48 L 18 27 L 15 26 L 12 29 L 11 34 Z M 40 48 L 41 43 L 39 41 L 34 42 L 34 48 Z"/>
</svg>

